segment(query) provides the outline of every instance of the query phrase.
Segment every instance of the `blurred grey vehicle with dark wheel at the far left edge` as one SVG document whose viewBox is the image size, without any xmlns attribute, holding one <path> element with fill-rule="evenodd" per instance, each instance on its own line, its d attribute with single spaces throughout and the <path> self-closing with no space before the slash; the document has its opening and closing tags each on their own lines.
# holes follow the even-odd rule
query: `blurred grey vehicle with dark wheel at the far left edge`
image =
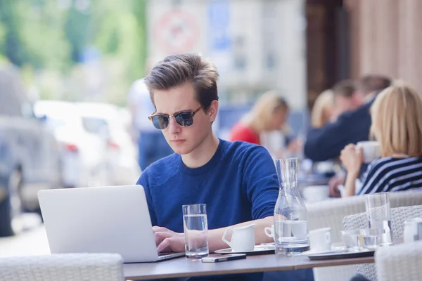
<svg viewBox="0 0 422 281">
<path fill-rule="evenodd" d="M 27 99 L 18 70 L 0 66 L 0 236 L 13 235 L 37 192 L 60 187 L 58 146 Z"/>
</svg>

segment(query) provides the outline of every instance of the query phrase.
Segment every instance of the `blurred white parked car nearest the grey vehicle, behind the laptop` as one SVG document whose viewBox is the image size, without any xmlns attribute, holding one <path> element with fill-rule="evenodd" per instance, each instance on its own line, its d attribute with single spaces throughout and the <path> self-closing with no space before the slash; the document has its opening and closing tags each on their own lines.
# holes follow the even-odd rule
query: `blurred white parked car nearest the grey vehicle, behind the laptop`
<svg viewBox="0 0 422 281">
<path fill-rule="evenodd" d="M 106 143 L 84 129 L 75 104 L 39 100 L 34 112 L 45 117 L 46 126 L 60 144 L 62 185 L 65 188 L 108 185 Z"/>
</svg>

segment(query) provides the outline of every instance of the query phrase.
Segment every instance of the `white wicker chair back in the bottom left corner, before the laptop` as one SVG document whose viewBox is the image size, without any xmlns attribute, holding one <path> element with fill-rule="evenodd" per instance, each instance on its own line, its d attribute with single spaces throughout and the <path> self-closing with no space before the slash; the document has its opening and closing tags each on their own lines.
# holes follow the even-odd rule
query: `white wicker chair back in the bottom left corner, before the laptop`
<svg viewBox="0 0 422 281">
<path fill-rule="evenodd" d="M 53 254 L 0 259 L 1 281 L 123 281 L 119 254 Z"/>
</svg>

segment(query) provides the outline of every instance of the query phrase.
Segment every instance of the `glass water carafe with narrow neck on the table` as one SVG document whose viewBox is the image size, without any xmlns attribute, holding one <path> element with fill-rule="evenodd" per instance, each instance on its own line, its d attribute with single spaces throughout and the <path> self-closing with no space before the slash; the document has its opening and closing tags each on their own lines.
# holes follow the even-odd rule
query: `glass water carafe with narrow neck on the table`
<svg viewBox="0 0 422 281">
<path fill-rule="evenodd" d="M 298 191 L 299 159 L 277 159 L 279 197 L 274 208 L 276 254 L 295 255 L 309 249 L 307 210 Z"/>
</svg>

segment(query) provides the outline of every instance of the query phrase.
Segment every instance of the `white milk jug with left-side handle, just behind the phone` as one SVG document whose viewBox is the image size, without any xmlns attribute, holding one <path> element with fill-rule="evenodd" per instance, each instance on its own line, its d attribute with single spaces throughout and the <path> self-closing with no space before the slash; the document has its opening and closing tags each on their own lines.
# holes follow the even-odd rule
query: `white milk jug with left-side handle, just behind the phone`
<svg viewBox="0 0 422 281">
<path fill-rule="evenodd" d="M 231 247 L 232 251 L 253 251 L 255 249 L 255 228 L 253 223 L 249 226 L 227 228 L 223 234 L 223 241 Z M 231 231 L 231 241 L 226 240 L 226 234 Z"/>
</svg>

